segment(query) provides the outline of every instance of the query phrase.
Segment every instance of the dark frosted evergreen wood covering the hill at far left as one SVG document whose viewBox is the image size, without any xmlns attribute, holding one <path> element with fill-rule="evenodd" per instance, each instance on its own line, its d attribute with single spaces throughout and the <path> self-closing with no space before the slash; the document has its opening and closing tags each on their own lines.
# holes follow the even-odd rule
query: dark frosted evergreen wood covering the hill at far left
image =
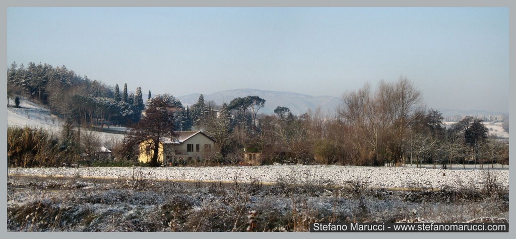
<svg viewBox="0 0 516 239">
<path fill-rule="evenodd" d="M 98 124 L 104 121 L 127 124 L 137 122 L 144 109 L 141 87 L 135 94 L 127 94 L 124 84 L 120 94 L 87 76 L 79 76 L 66 66 L 29 62 L 27 67 L 15 62 L 7 70 L 8 97 L 23 96 L 48 106 L 62 118 L 72 118 L 78 125 Z"/>
</svg>

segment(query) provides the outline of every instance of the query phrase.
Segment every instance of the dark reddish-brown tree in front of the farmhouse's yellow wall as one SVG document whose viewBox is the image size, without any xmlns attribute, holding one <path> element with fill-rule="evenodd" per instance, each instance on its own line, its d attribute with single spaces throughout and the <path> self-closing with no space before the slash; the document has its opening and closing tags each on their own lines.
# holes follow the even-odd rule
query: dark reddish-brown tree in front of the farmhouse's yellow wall
<svg viewBox="0 0 516 239">
<path fill-rule="evenodd" d="M 136 124 L 124 139 L 126 148 L 134 148 L 140 143 L 152 149 L 150 164 L 158 166 L 158 150 L 164 138 L 172 138 L 175 130 L 173 105 L 165 98 L 155 97 L 149 102 L 146 115 Z"/>
</svg>

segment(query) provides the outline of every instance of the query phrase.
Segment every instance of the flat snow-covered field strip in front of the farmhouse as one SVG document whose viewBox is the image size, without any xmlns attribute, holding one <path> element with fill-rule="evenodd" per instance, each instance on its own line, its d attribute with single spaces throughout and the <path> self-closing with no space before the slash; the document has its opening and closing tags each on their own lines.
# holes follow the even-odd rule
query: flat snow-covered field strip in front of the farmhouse
<svg viewBox="0 0 516 239">
<path fill-rule="evenodd" d="M 278 182 L 330 181 L 346 185 L 360 181 L 370 187 L 385 188 L 481 188 L 488 172 L 503 186 L 509 185 L 509 170 L 455 170 L 357 167 L 357 166 L 303 166 L 274 165 L 256 167 L 173 167 L 173 168 L 9 168 L 9 174 L 81 176 L 81 177 L 132 177 L 143 173 L 150 179 Z M 135 174 L 136 173 L 136 174 Z"/>
</svg>

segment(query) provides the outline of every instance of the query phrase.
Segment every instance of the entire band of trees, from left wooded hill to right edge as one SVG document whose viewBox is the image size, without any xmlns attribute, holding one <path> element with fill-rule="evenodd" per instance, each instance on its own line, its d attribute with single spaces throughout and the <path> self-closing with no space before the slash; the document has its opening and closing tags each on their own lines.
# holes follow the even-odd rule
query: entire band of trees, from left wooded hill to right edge
<svg viewBox="0 0 516 239">
<path fill-rule="evenodd" d="M 508 163 L 508 142 L 490 138 L 480 119 L 465 117 L 445 126 L 442 114 L 425 109 L 421 92 L 406 78 L 381 81 L 375 90 L 366 83 L 342 97 L 342 106 L 324 114 L 320 108 L 294 115 L 277 106 L 260 113 L 266 103 L 258 96 L 239 97 L 217 105 L 203 95 L 186 107 L 173 96 L 149 95 L 141 88 L 127 94 L 118 84 L 108 87 L 80 77 L 65 66 L 15 63 L 8 69 L 8 93 L 49 105 L 69 122 L 80 125 L 103 120 L 130 126 L 122 156 L 137 160 L 144 137 L 172 137 L 174 131 L 201 130 L 218 145 L 217 162 L 238 162 L 242 153 L 261 153 L 262 163 L 322 163 L 384 166 L 432 163 Z M 141 112 L 146 112 L 142 117 Z M 155 117 L 162 118 L 155 118 Z M 162 122 L 165 120 L 166 122 Z M 504 126 L 507 122 L 504 122 Z M 78 140 L 80 142 L 80 139 Z M 152 145 L 154 148 L 156 145 Z"/>
</svg>

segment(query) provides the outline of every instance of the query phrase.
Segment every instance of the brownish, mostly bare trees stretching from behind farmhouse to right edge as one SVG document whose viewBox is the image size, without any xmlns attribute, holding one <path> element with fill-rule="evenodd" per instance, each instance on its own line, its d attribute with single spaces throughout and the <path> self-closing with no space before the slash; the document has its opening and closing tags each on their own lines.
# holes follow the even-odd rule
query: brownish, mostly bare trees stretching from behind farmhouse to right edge
<svg viewBox="0 0 516 239">
<path fill-rule="evenodd" d="M 381 81 L 375 91 L 365 84 L 344 94 L 342 100 L 334 115 L 318 108 L 297 116 L 284 106 L 266 115 L 260 114 L 266 100 L 258 96 L 216 105 L 206 104 L 200 95 L 196 104 L 186 108 L 189 120 L 184 114 L 173 114 L 177 123 L 163 134 L 186 122 L 187 128 L 215 139 L 220 152 L 217 161 L 227 162 L 242 160 L 246 152 L 261 153 L 262 163 L 431 163 L 442 168 L 457 163 L 463 167 L 508 163 L 508 143 L 490 138 L 482 120 L 465 117 L 446 127 L 442 114 L 425 109 L 420 91 L 405 78 Z"/>
</svg>

